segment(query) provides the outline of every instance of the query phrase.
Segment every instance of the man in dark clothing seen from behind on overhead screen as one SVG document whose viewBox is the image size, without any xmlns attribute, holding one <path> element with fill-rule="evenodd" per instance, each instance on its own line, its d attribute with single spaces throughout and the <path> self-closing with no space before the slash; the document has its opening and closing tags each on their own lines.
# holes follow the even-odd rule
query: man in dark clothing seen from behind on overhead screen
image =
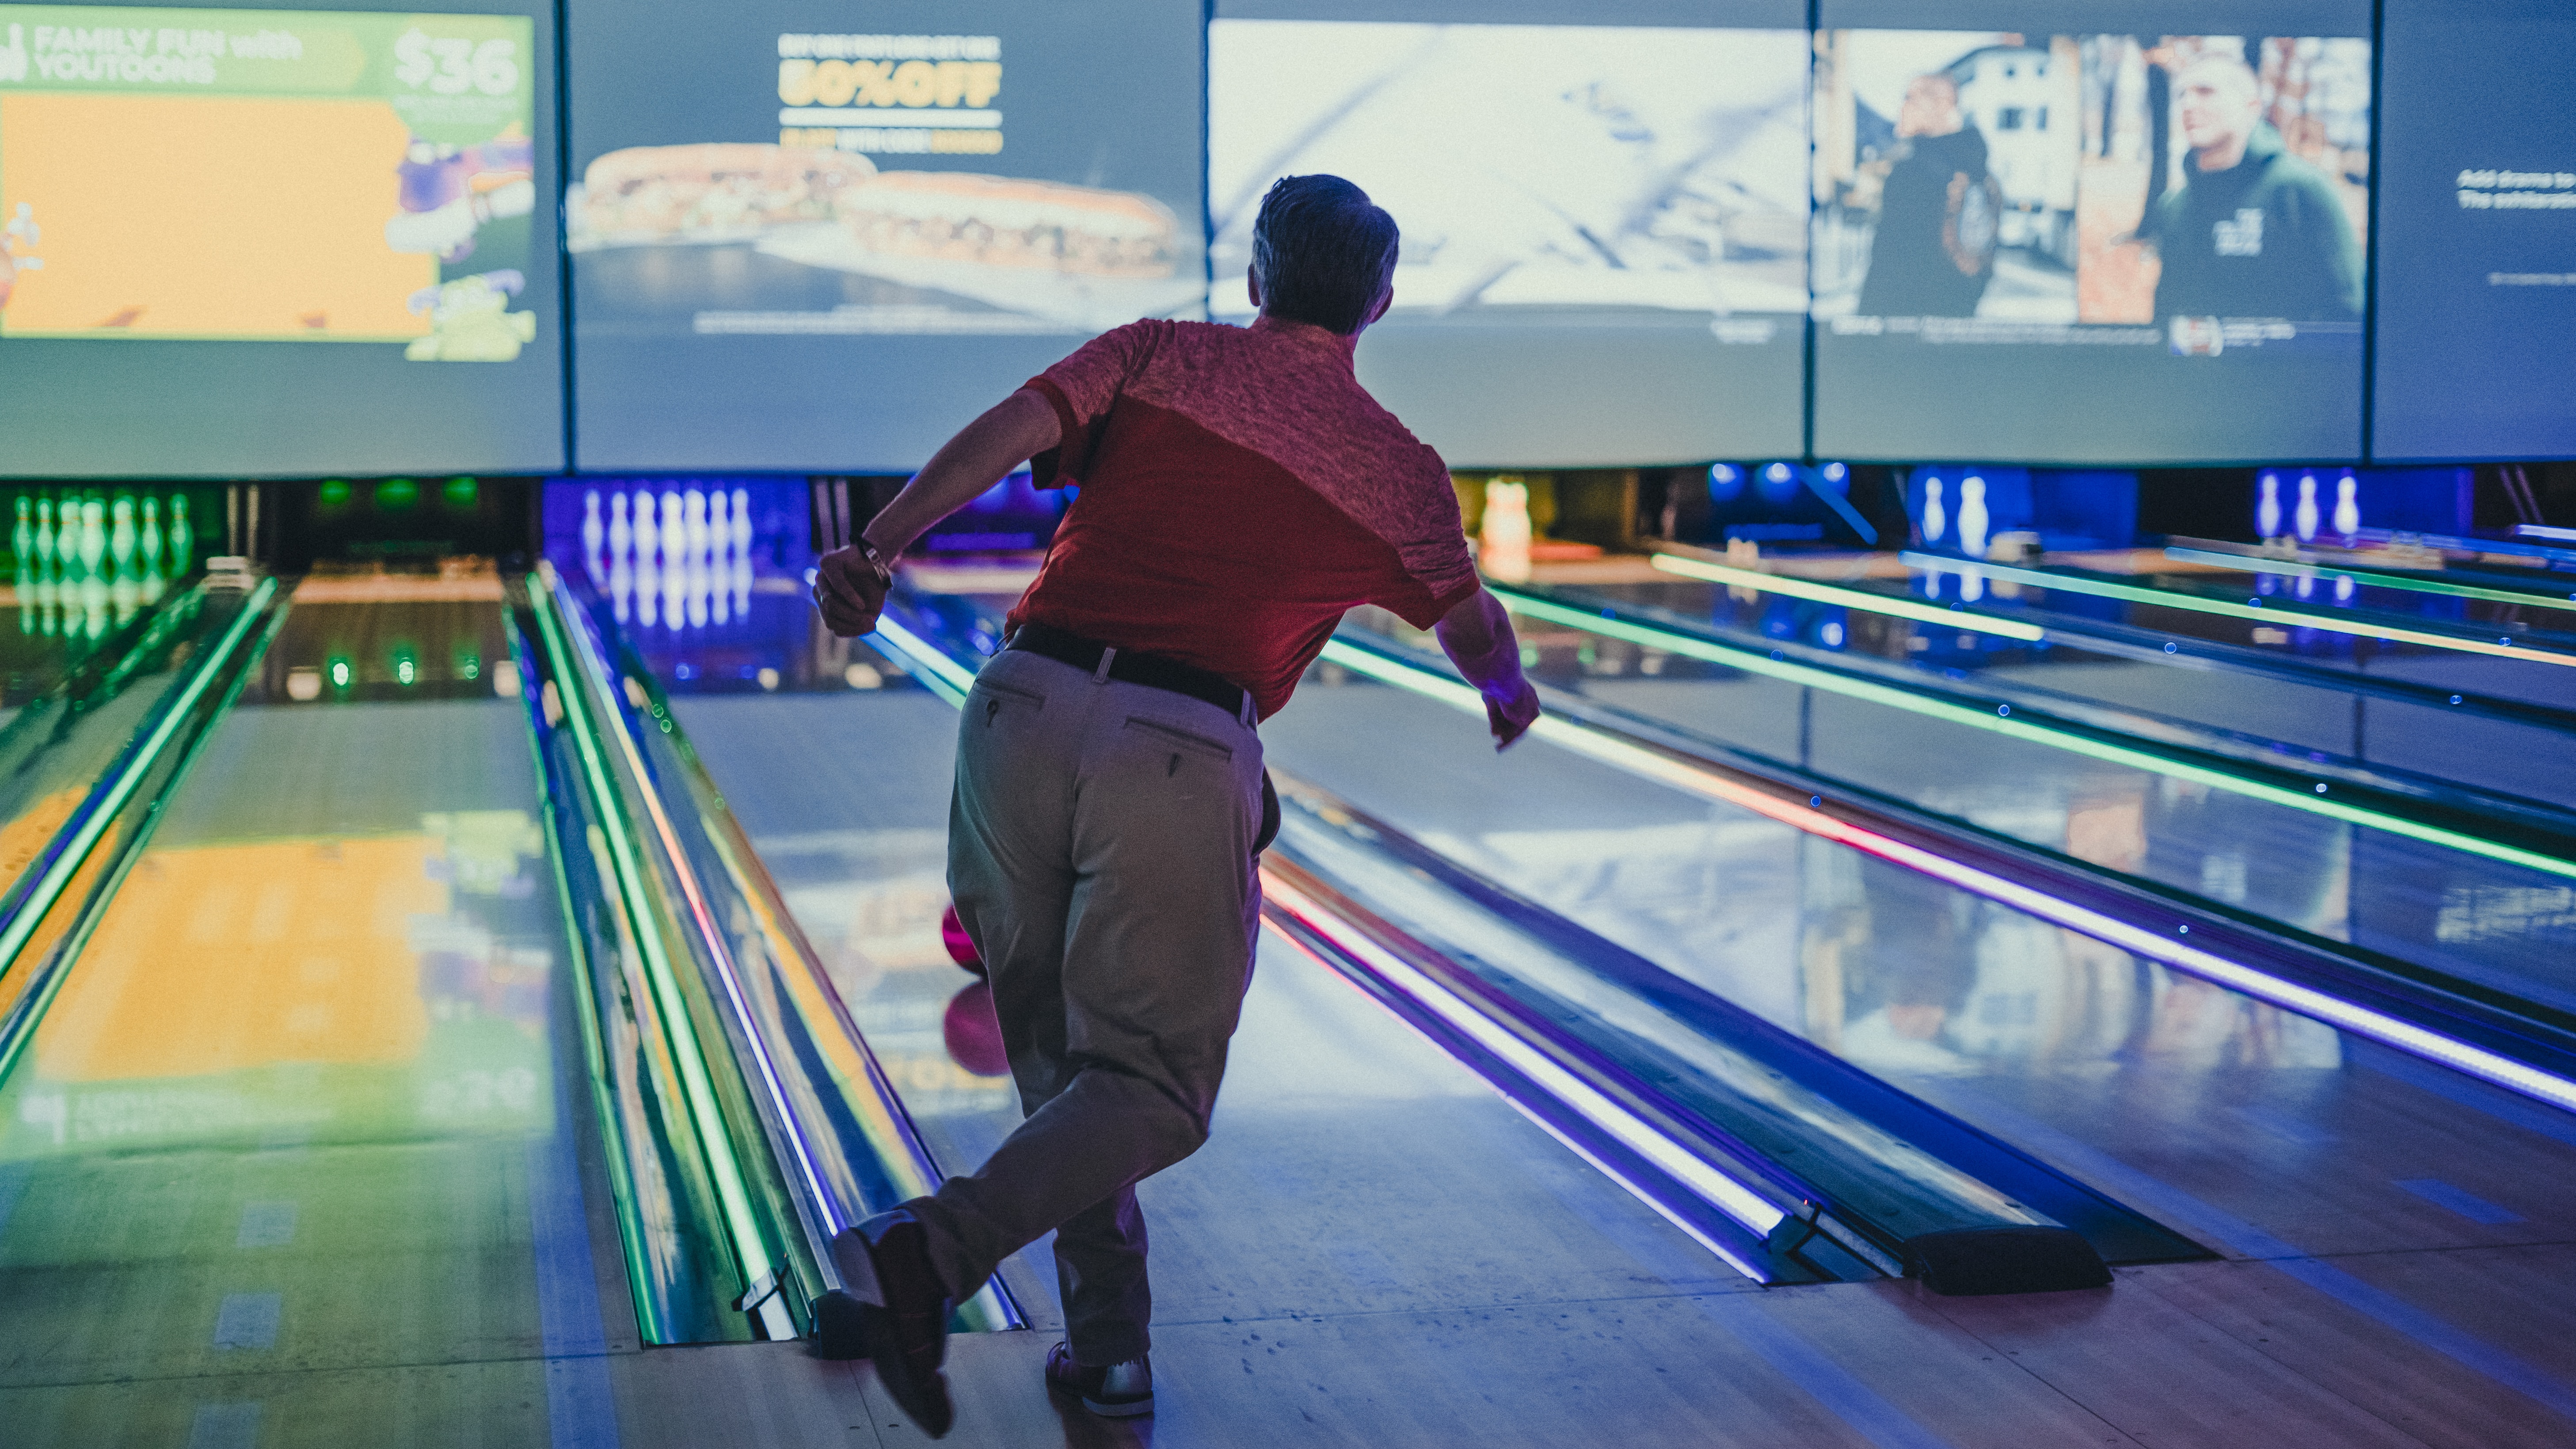
<svg viewBox="0 0 2576 1449">
<path fill-rule="evenodd" d="M 1996 190 L 1958 77 L 1917 75 L 1896 136 L 1904 144 L 1880 190 L 1860 317 L 1976 317 L 1994 278 Z"/>
</svg>

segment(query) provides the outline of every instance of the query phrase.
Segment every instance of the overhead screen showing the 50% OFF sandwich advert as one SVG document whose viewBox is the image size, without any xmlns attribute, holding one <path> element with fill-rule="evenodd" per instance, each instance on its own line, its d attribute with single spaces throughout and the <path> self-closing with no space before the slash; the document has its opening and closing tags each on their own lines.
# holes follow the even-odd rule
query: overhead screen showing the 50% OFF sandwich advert
<svg viewBox="0 0 2576 1449">
<path fill-rule="evenodd" d="M 1195 0 L 572 0 L 585 468 L 909 471 L 1200 317 Z"/>
</svg>

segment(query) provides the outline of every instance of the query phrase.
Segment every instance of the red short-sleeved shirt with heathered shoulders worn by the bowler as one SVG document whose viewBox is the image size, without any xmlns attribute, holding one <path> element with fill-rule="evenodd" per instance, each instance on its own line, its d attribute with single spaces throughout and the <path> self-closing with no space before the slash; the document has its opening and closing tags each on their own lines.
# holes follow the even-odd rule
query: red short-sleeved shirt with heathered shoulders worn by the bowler
<svg viewBox="0 0 2576 1449">
<path fill-rule="evenodd" d="M 1131 322 L 1028 381 L 1082 492 L 1010 623 L 1180 659 L 1288 703 L 1352 605 L 1430 628 L 1476 592 L 1440 456 L 1301 322 Z"/>
</svg>

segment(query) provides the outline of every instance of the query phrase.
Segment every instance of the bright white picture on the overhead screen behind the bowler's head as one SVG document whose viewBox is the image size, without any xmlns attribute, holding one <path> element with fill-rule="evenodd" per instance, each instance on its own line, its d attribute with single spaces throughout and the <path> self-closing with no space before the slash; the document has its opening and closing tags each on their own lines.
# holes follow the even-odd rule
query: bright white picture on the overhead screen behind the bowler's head
<svg viewBox="0 0 2576 1449">
<path fill-rule="evenodd" d="M 1404 229 L 1391 322 L 1700 314 L 1767 342 L 1806 306 L 1806 31 L 1218 21 L 1211 309 L 1247 319 L 1280 175 Z"/>
</svg>

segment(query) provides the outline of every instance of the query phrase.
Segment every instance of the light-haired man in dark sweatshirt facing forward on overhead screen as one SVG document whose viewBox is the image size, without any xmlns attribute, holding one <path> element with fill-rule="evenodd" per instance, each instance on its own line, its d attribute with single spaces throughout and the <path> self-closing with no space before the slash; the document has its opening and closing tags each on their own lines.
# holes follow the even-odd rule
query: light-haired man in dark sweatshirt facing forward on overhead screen
<svg viewBox="0 0 2576 1449">
<path fill-rule="evenodd" d="M 2156 319 L 2282 317 L 2357 322 L 2362 247 L 2334 180 L 2293 157 L 2262 118 L 2262 82 L 2233 54 L 2174 77 L 2184 183 L 2156 203 Z"/>
</svg>

